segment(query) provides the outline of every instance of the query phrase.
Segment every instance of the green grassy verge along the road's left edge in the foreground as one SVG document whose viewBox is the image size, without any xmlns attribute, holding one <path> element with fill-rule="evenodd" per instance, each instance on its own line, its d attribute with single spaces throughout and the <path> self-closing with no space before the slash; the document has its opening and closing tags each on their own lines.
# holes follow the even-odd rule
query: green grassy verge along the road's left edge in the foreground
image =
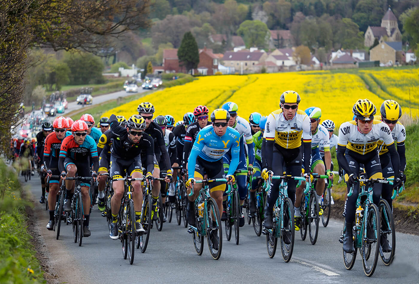
<svg viewBox="0 0 419 284">
<path fill-rule="evenodd" d="M 32 237 L 24 192 L 16 172 L 0 159 L 0 283 L 46 283 Z"/>
</svg>

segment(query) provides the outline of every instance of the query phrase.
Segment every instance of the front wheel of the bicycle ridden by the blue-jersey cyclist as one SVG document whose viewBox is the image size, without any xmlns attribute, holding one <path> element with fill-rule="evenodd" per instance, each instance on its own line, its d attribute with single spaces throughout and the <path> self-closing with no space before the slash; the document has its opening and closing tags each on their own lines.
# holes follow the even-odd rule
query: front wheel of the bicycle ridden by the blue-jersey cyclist
<svg viewBox="0 0 419 284">
<path fill-rule="evenodd" d="M 212 216 L 212 213 L 214 216 Z M 222 228 L 220 212 L 214 198 L 207 200 L 207 207 L 204 212 L 205 231 L 207 234 L 208 248 L 212 258 L 218 259 L 222 249 Z M 212 224 L 215 223 L 213 226 Z M 218 238 L 218 240 L 217 240 Z"/>
</svg>

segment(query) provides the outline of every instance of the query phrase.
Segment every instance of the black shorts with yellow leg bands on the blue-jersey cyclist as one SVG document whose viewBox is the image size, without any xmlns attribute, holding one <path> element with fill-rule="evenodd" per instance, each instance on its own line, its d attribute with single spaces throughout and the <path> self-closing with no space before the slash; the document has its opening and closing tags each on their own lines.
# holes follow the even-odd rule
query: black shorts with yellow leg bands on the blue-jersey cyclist
<svg viewBox="0 0 419 284">
<path fill-rule="evenodd" d="M 224 167 L 222 159 L 210 162 L 205 161 L 200 156 L 197 157 L 195 164 L 195 179 L 204 179 L 204 175 L 207 174 L 209 179 L 225 179 Z M 226 182 L 210 182 L 209 192 L 224 191 Z"/>
</svg>

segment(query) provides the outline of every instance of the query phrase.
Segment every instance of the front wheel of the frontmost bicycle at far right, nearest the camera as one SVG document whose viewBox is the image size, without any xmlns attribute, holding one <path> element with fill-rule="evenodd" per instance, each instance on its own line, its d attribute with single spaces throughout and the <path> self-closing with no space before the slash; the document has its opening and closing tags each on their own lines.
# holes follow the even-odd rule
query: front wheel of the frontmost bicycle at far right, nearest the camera
<svg viewBox="0 0 419 284">
<path fill-rule="evenodd" d="M 374 274 L 375 267 L 378 262 L 378 255 L 380 251 L 380 215 L 378 207 L 375 204 L 370 204 L 367 207 L 365 222 L 362 224 L 362 266 L 364 268 L 365 275 L 371 277 Z M 365 235 L 367 232 L 367 235 Z M 374 239 L 368 238 L 368 233 L 374 232 Z M 374 250 L 375 247 L 375 250 Z M 372 262 L 370 261 L 372 257 Z"/>
</svg>

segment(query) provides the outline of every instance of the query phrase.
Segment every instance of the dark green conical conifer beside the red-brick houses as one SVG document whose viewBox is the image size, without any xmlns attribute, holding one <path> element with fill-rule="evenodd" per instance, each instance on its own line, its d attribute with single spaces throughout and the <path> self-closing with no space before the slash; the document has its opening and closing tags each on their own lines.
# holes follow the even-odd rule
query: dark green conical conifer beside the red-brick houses
<svg viewBox="0 0 419 284">
<path fill-rule="evenodd" d="M 182 38 L 181 46 L 178 49 L 178 59 L 180 66 L 184 66 L 187 73 L 198 67 L 198 44 L 190 31 L 186 32 Z"/>
</svg>

